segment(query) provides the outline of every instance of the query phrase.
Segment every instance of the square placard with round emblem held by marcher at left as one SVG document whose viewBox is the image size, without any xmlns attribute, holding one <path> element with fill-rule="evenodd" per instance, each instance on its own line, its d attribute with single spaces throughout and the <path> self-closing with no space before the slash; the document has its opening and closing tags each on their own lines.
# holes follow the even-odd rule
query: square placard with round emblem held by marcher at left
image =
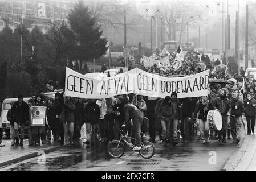
<svg viewBox="0 0 256 182">
<path fill-rule="evenodd" d="M 32 106 L 29 110 L 31 126 L 45 126 L 46 107 Z"/>
</svg>

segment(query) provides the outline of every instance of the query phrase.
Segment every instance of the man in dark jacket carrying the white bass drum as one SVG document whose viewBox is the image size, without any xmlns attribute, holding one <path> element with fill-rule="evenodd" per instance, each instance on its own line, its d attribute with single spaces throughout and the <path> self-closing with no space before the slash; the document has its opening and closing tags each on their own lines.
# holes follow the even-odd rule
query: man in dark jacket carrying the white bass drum
<svg viewBox="0 0 256 182">
<path fill-rule="evenodd" d="M 231 112 L 231 101 L 227 98 L 225 89 L 220 89 L 220 97 L 214 100 L 213 107 L 221 112 L 222 117 L 222 128 L 218 131 L 218 142 L 219 144 L 221 142 L 226 143 L 227 113 Z"/>
</svg>

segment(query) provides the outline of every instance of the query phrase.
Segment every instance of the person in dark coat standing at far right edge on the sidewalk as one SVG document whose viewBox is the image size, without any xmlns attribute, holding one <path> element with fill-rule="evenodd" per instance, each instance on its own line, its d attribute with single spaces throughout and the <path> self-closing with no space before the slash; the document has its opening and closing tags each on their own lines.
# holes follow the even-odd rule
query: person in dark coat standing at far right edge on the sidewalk
<svg viewBox="0 0 256 182">
<path fill-rule="evenodd" d="M 251 131 L 254 134 L 255 126 L 255 115 L 256 115 L 256 100 L 251 97 L 251 93 L 246 94 L 246 99 L 243 102 L 244 112 L 247 122 L 247 135 L 251 134 Z"/>
</svg>

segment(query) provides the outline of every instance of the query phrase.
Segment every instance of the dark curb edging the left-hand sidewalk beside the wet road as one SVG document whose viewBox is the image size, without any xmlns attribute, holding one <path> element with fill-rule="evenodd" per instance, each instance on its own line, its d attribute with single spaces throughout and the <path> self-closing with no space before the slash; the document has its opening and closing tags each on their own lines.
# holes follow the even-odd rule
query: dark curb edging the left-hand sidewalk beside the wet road
<svg viewBox="0 0 256 182">
<path fill-rule="evenodd" d="M 44 151 L 45 154 L 48 154 L 50 152 L 57 151 L 57 150 L 59 150 L 60 148 L 63 148 L 63 147 L 64 146 L 58 146 L 58 147 L 48 148 L 48 149 L 45 149 L 45 150 L 43 150 L 43 149 L 40 150 L 40 148 L 36 148 L 37 151 L 32 152 L 31 154 L 27 154 L 27 155 L 24 155 L 24 156 L 15 158 L 15 159 L 7 160 L 6 162 L 0 163 L 0 167 L 4 167 L 4 166 L 7 166 L 7 165 L 10 165 L 10 164 L 13 164 L 13 163 L 21 162 L 22 160 L 27 160 L 27 159 L 39 156 L 38 155 L 39 151 Z"/>
</svg>

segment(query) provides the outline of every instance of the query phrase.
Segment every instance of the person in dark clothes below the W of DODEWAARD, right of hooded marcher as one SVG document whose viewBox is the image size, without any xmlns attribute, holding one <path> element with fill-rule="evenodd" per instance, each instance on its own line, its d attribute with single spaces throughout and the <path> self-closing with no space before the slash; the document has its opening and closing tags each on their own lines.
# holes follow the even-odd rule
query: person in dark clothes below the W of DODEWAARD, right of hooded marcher
<svg viewBox="0 0 256 182">
<path fill-rule="evenodd" d="M 190 130 L 192 130 L 192 125 L 190 124 L 192 121 L 192 111 L 193 105 L 191 98 L 181 98 L 181 135 L 182 142 L 189 143 Z"/>
</svg>

